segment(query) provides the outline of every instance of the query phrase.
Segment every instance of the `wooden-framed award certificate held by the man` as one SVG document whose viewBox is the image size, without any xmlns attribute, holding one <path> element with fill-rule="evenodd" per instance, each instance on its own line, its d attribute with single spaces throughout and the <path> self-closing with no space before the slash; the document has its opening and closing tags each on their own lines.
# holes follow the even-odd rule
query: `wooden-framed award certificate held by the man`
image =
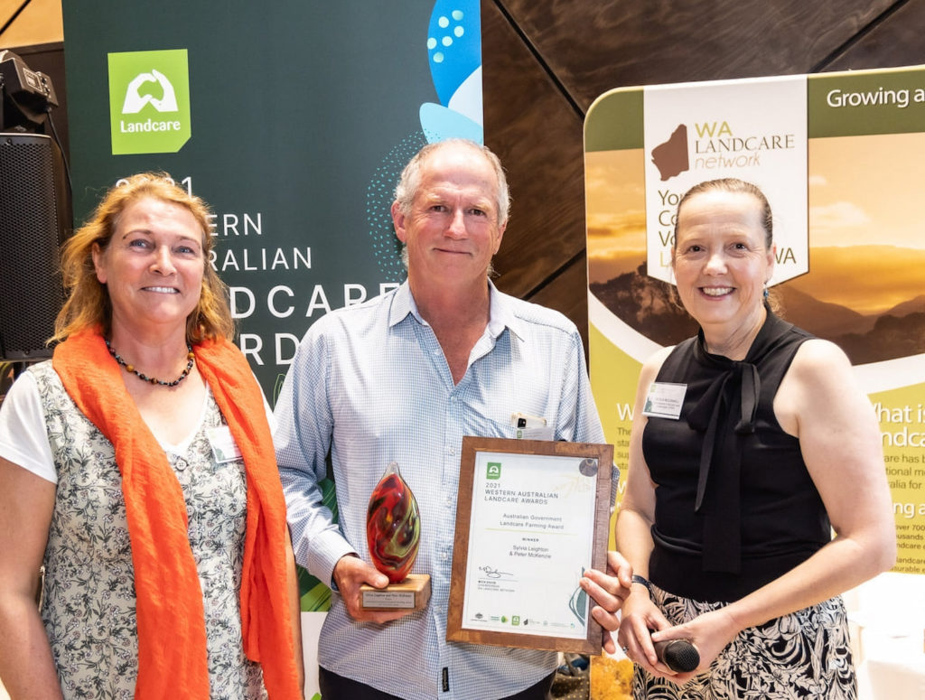
<svg viewBox="0 0 925 700">
<path fill-rule="evenodd" d="M 447 639 L 599 654 L 612 445 L 463 437 Z"/>
</svg>

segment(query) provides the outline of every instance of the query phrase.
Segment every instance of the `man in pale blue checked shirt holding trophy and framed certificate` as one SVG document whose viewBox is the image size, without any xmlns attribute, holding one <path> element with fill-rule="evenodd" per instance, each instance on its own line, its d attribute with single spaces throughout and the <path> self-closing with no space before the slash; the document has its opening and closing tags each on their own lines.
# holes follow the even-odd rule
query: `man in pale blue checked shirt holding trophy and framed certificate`
<svg viewBox="0 0 925 700">
<path fill-rule="evenodd" d="M 488 278 L 507 225 L 498 158 L 472 141 L 424 147 L 405 167 L 392 219 L 408 279 L 315 323 L 277 401 L 277 461 L 298 562 L 335 590 L 318 645 L 325 700 L 541 700 L 554 652 L 448 642 L 462 436 L 513 437 L 515 412 L 546 419 L 549 439 L 604 442 L 581 337 L 561 313 L 502 294 Z M 339 522 L 318 481 L 329 458 Z M 415 572 L 431 577 L 423 610 L 364 611 L 366 507 L 398 461 L 421 511 Z M 616 552 L 581 586 L 605 631 L 628 594 Z M 609 632 L 605 648 L 614 651 Z"/>
</svg>

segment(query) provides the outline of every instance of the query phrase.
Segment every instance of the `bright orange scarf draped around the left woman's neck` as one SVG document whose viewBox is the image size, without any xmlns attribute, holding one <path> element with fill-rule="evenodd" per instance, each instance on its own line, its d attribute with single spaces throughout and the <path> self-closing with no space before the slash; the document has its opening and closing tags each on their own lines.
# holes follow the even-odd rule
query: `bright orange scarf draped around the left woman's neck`
<svg viewBox="0 0 925 700">
<path fill-rule="evenodd" d="M 285 556 L 286 503 L 263 395 L 244 356 L 228 340 L 206 340 L 193 350 L 247 473 L 240 584 L 244 653 L 261 664 L 270 698 L 298 698 Z M 52 362 L 70 398 L 113 444 L 122 474 L 135 568 L 135 698 L 208 698 L 203 593 L 177 477 L 129 397 L 121 369 L 97 329 L 58 345 Z"/>
</svg>

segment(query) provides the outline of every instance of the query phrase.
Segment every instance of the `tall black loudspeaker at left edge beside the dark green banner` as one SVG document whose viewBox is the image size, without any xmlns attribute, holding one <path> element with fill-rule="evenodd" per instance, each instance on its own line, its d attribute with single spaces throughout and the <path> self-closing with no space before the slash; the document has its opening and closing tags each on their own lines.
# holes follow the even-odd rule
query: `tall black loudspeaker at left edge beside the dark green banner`
<svg viewBox="0 0 925 700">
<path fill-rule="evenodd" d="M 43 134 L 0 132 L 0 359 L 51 357 L 64 303 L 58 249 L 67 195 L 61 154 Z M 68 224 L 69 226 L 69 224 Z"/>
</svg>

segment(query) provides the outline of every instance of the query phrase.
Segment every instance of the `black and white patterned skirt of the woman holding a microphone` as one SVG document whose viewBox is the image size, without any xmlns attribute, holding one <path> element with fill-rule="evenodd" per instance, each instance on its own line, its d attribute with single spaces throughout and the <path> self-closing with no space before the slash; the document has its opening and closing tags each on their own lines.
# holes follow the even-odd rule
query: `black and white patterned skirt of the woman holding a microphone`
<svg viewBox="0 0 925 700">
<path fill-rule="evenodd" d="M 656 605 L 672 624 L 727 603 L 700 603 L 652 586 Z M 848 620 L 840 596 L 749 627 L 683 686 L 635 666 L 635 700 L 857 700 Z"/>
</svg>

